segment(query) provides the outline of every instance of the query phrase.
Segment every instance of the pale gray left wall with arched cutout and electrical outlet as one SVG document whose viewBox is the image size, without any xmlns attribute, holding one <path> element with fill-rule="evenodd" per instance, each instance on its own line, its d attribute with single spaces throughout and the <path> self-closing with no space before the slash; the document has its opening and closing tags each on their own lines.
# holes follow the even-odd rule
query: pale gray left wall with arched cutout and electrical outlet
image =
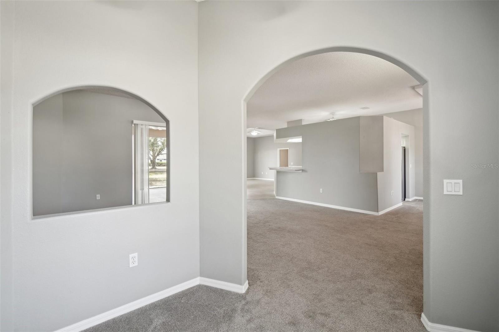
<svg viewBox="0 0 499 332">
<path fill-rule="evenodd" d="M 0 11 L 0 208 L 12 232 L 9 246 L 2 229 L 1 253 L 13 255 L 1 262 L 2 331 L 53 331 L 198 277 L 197 3 L 1 1 Z M 130 91 L 170 120 L 170 203 L 31 220 L 31 103 L 83 85 Z"/>
</svg>

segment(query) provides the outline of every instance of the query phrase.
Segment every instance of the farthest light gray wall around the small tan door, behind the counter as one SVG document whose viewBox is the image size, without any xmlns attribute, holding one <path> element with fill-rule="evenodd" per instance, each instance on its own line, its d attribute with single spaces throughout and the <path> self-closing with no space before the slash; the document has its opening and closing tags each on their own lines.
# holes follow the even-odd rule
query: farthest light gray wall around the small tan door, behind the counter
<svg viewBox="0 0 499 332">
<path fill-rule="evenodd" d="M 277 165 L 277 149 L 289 149 L 289 166 L 301 166 L 301 143 L 275 143 L 273 136 L 250 138 L 253 148 L 253 174 L 259 178 L 275 176 L 275 170 L 268 167 Z M 251 144 L 251 143 L 250 143 Z M 247 149 L 247 151 L 249 151 Z M 249 153 L 249 152 L 248 152 Z M 292 164 L 291 164 L 292 163 Z"/>
</svg>

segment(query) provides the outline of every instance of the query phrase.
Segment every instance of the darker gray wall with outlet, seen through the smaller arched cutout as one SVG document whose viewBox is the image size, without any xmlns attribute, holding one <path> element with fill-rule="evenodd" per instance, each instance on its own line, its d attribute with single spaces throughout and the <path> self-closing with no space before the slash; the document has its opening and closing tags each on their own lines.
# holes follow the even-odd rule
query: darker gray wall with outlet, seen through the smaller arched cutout
<svg viewBox="0 0 499 332">
<path fill-rule="evenodd" d="M 133 120 L 165 124 L 141 101 L 84 90 L 34 106 L 33 215 L 132 205 Z"/>
</svg>

